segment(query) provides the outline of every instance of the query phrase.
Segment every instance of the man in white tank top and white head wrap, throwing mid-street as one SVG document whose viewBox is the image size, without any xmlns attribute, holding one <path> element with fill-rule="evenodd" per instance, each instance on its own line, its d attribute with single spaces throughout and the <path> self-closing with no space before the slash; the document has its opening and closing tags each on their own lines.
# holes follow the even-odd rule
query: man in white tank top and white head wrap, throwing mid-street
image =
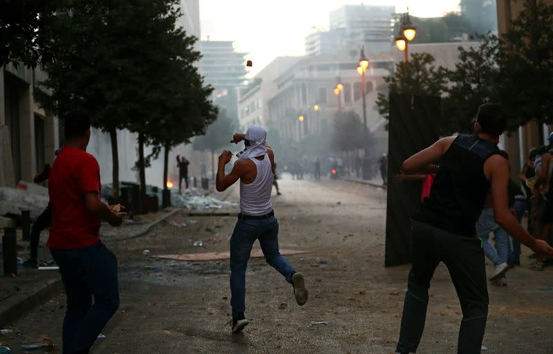
<svg viewBox="0 0 553 354">
<path fill-rule="evenodd" d="M 232 298 L 232 332 L 243 330 L 249 323 L 245 318 L 245 273 L 252 245 L 259 240 L 265 261 L 292 284 L 299 306 L 306 304 L 308 290 L 303 274 L 296 272 L 288 259 L 279 252 L 279 222 L 271 203 L 274 175 L 274 153 L 265 144 L 267 133 L 253 125 L 246 133 L 234 134 L 231 142 L 244 141 L 245 149 L 238 153 L 232 171 L 225 174 L 225 165 L 232 159 L 230 151 L 219 156 L 216 188 L 225 191 L 240 180 L 240 214 L 230 239 L 230 290 Z"/>
</svg>

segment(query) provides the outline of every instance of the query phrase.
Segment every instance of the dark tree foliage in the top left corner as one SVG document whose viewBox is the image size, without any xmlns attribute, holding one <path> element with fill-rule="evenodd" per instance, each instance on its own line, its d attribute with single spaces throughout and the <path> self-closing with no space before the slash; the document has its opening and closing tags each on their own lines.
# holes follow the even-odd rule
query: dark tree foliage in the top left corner
<svg viewBox="0 0 553 354">
<path fill-rule="evenodd" d="M 57 50 L 51 41 L 50 24 L 55 12 L 64 11 L 69 0 L 16 0 L 0 2 L 0 67 L 7 64 L 29 68 L 50 62 Z"/>
</svg>

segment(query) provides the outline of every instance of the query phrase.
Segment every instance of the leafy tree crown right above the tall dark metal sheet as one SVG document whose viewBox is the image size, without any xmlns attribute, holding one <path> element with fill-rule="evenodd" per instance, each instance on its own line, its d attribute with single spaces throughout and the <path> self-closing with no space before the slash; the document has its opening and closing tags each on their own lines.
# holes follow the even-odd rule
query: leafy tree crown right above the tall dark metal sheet
<svg viewBox="0 0 553 354">
<path fill-rule="evenodd" d="M 409 62 L 395 64 L 393 76 L 384 77 L 388 92 L 406 95 L 442 95 L 447 83 L 447 70 L 433 66 L 435 59 L 429 53 L 412 53 Z M 388 95 L 379 88 L 377 110 L 389 119 Z M 387 126 L 386 126 L 387 127 Z"/>
</svg>

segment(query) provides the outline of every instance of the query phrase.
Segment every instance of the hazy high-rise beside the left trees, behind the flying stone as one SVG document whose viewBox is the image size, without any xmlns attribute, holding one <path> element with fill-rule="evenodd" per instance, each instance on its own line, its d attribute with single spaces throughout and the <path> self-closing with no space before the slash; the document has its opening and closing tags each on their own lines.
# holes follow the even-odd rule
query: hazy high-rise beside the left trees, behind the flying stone
<svg viewBox="0 0 553 354">
<path fill-rule="evenodd" d="M 200 72 L 205 84 L 215 90 L 213 100 L 227 111 L 229 118 L 238 118 L 238 88 L 244 85 L 244 56 L 234 50 L 232 41 L 201 41 Z"/>
</svg>

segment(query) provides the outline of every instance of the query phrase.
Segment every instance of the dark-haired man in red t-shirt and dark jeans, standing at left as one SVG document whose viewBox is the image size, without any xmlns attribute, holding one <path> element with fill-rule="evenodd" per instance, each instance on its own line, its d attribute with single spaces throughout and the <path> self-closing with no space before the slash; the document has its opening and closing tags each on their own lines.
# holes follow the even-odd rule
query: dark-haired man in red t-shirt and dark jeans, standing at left
<svg viewBox="0 0 553 354">
<path fill-rule="evenodd" d="M 50 169 L 52 223 L 47 245 L 67 295 L 64 354 L 82 354 L 88 353 L 119 307 L 117 259 L 100 241 L 100 224 L 104 220 L 121 225 L 126 214 L 113 212 L 100 200 L 100 167 L 86 153 L 90 116 L 68 113 L 64 136 L 66 144 Z"/>
</svg>

